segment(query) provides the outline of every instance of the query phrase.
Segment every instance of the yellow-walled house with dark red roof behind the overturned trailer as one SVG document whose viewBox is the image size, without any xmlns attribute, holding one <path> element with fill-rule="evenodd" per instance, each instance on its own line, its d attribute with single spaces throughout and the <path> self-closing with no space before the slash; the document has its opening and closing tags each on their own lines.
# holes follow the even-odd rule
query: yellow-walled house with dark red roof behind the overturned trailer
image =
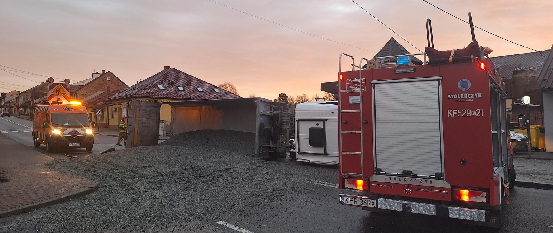
<svg viewBox="0 0 553 233">
<path fill-rule="evenodd" d="M 200 100 L 241 98 L 200 78 L 165 66 L 164 70 L 141 80 L 137 84 L 110 96 L 105 100 L 109 106 L 109 127 L 116 128 L 121 117 L 127 116 L 131 100 L 151 101 L 158 103 Z M 161 105 L 160 120 L 170 124 L 171 107 Z"/>
</svg>

